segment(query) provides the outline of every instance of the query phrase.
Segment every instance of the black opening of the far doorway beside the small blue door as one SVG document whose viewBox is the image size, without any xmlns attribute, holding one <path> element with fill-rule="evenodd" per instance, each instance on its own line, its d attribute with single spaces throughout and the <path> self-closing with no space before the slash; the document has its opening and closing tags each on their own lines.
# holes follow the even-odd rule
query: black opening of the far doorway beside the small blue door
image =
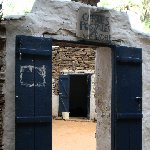
<svg viewBox="0 0 150 150">
<path fill-rule="evenodd" d="M 87 117 L 89 108 L 87 75 L 70 76 L 70 117 Z"/>
</svg>

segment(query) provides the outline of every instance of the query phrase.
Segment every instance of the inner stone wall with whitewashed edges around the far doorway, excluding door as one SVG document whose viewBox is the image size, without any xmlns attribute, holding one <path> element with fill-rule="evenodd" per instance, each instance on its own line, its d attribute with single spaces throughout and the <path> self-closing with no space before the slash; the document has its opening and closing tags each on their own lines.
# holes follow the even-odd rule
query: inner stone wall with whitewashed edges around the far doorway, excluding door
<svg viewBox="0 0 150 150">
<path fill-rule="evenodd" d="M 93 74 L 91 76 L 90 119 L 96 119 L 94 98 L 96 48 L 89 47 L 54 47 L 52 51 L 52 115 L 58 116 L 59 95 L 58 80 L 61 74 Z"/>
</svg>

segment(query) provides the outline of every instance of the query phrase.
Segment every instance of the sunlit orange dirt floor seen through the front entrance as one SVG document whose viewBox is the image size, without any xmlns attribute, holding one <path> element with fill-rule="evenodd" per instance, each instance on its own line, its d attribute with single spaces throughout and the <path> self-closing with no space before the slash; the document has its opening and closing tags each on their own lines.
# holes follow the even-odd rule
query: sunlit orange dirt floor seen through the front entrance
<svg viewBox="0 0 150 150">
<path fill-rule="evenodd" d="M 96 123 L 53 120 L 52 150 L 96 150 Z"/>
</svg>

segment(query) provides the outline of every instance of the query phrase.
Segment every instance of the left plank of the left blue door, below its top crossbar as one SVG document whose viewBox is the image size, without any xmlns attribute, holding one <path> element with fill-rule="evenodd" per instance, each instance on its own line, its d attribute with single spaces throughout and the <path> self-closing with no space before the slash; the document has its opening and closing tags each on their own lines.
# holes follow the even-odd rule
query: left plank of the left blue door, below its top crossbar
<svg viewBox="0 0 150 150">
<path fill-rule="evenodd" d="M 34 150 L 34 125 L 18 117 L 34 116 L 34 62 L 30 56 L 16 57 L 16 150 Z M 30 137 L 30 138 L 29 138 Z"/>
</svg>

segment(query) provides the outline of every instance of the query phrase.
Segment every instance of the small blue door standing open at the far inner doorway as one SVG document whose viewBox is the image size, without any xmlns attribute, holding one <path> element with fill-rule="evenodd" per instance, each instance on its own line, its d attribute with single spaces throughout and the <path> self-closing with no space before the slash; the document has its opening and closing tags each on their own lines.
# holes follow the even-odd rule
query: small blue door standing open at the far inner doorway
<svg viewBox="0 0 150 150">
<path fill-rule="evenodd" d="M 59 115 L 69 112 L 70 75 L 59 77 Z"/>
</svg>

